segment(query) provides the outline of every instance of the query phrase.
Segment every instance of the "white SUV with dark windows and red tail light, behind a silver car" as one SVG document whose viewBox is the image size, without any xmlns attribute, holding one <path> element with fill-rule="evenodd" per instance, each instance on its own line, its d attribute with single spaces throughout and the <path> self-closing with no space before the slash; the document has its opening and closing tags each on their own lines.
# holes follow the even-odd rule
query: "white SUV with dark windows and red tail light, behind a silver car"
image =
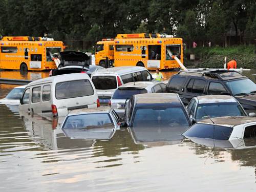
<svg viewBox="0 0 256 192">
<path fill-rule="evenodd" d="M 152 75 L 144 67 L 114 67 L 95 72 L 92 81 L 102 103 L 108 103 L 119 86 L 133 81 L 152 81 Z"/>
</svg>

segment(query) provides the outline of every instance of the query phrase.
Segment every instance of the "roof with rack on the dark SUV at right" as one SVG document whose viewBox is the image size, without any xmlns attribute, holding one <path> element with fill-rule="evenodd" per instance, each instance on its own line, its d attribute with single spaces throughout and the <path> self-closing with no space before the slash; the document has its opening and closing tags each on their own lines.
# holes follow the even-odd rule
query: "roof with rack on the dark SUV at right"
<svg viewBox="0 0 256 192">
<path fill-rule="evenodd" d="M 178 74 L 181 73 L 194 73 L 194 74 L 201 74 L 202 76 L 208 76 L 215 79 L 233 79 L 233 78 L 241 78 L 244 77 L 242 74 L 240 74 L 237 71 L 234 70 L 226 70 L 226 69 L 203 69 L 199 68 L 196 70 L 189 70 L 189 71 L 183 71 L 180 70 Z"/>
</svg>

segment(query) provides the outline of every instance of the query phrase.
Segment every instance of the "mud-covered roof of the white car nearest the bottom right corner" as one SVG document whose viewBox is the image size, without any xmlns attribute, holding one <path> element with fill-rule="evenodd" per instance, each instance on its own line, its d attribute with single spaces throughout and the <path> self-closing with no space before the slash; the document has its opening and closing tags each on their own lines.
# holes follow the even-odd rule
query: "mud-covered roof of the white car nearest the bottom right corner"
<svg viewBox="0 0 256 192">
<path fill-rule="evenodd" d="M 199 121 L 198 123 L 207 123 L 207 124 L 218 124 L 222 126 L 236 126 L 240 124 L 255 122 L 256 117 L 248 117 L 248 116 L 227 116 L 227 117 L 215 117 L 210 119 L 204 119 Z"/>
</svg>

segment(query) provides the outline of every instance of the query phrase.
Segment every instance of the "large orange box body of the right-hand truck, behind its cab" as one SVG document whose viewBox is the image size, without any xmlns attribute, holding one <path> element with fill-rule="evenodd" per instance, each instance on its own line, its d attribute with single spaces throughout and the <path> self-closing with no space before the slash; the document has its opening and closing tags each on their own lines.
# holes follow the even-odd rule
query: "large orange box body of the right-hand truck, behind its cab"
<svg viewBox="0 0 256 192">
<path fill-rule="evenodd" d="M 149 70 L 180 68 L 183 63 L 182 38 L 166 34 L 118 34 L 115 38 L 115 67 L 142 66 Z"/>
</svg>

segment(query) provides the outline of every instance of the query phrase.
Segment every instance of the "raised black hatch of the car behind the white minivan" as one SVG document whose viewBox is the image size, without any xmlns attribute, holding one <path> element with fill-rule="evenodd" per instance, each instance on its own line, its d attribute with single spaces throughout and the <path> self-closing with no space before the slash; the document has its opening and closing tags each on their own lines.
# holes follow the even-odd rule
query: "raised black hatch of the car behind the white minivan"
<svg viewBox="0 0 256 192">
<path fill-rule="evenodd" d="M 59 55 L 61 61 L 83 62 L 90 59 L 86 53 L 79 51 L 62 51 Z"/>
</svg>

